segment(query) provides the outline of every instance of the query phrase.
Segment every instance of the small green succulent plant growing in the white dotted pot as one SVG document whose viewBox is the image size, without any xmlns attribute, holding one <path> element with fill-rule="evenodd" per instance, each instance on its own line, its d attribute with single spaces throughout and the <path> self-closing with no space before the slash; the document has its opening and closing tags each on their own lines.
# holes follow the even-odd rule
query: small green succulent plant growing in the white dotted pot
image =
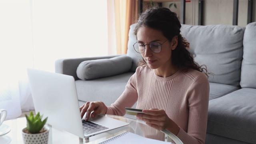
<svg viewBox="0 0 256 144">
<path fill-rule="evenodd" d="M 30 112 L 30 115 L 26 116 L 27 119 L 27 130 L 28 132 L 30 132 L 31 134 L 38 134 L 40 132 L 40 130 L 42 130 L 42 128 L 44 127 L 44 124 L 46 124 L 47 118 L 46 117 L 43 121 L 42 121 L 42 116 L 40 116 L 40 113 L 38 112 L 36 114 L 36 116 L 34 116 L 33 112 Z"/>
</svg>

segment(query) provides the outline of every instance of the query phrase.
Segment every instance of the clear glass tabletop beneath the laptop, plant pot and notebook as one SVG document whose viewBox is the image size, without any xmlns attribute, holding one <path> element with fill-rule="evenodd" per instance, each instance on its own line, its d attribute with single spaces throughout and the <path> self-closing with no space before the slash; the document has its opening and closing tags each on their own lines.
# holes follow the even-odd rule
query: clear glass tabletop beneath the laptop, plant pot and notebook
<svg viewBox="0 0 256 144">
<path fill-rule="evenodd" d="M 105 116 L 127 122 L 129 123 L 129 125 L 114 130 L 110 130 L 101 134 L 97 134 L 95 136 L 91 136 L 90 138 L 83 140 L 81 140 L 81 138 L 78 138 L 78 136 L 51 127 L 48 144 L 98 144 L 106 139 L 112 138 L 125 131 L 146 138 L 170 142 L 172 144 L 183 144 L 180 141 L 180 139 L 177 138 L 174 134 L 168 132 L 167 130 L 158 131 L 154 128 L 151 128 L 150 126 L 146 125 L 142 120 L 108 114 L 106 114 Z M 2 134 L 0 136 L 0 144 L 23 144 L 22 129 L 26 127 L 26 118 L 23 117 L 12 120 L 6 120 L 3 122 L 3 124 L 2 126 L 7 126 L 10 128 L 10 132 Z"/>
</svg>

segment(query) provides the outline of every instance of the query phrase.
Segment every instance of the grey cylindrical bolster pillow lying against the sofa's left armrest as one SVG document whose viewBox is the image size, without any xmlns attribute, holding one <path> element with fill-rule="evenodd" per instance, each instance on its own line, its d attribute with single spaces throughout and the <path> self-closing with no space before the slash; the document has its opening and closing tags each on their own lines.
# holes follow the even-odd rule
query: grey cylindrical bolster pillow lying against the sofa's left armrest
<svg viewBox="0 0 256 144">
<path fill-rule="evenodd" d="M 93 80 L 128 72 L 132 68 L 132 58 L 116 56 L 108 59 L 86 60 L 76 70 L 81 80 Z"/>
</svg>

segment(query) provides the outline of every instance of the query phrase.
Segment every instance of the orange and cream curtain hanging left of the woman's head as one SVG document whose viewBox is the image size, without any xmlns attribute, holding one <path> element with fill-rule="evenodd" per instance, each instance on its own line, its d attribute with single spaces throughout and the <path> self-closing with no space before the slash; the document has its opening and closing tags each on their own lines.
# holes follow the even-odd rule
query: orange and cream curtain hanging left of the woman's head
<svg viewBox="0 0 256 144">
<path fill-rule="evenodd" d="M 138 19 L 140 0 L 114 0 L 117 54 L 127 53 L 130 25 Z"/>
</svg>

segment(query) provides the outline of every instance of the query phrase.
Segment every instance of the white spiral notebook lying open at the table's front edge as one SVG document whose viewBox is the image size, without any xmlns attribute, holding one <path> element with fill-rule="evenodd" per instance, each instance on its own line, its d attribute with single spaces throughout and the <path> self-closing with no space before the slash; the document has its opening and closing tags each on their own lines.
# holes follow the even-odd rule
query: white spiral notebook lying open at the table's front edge
<svg viewBox="0 0 256 144">
<path fill-rule="evenodd" d="M 131 132 L 123 132 L 112 138 L 106 139 L 99 144 L 172 144 L 172 142 L 164 142 L 145 138 Z"/>
</svg>

